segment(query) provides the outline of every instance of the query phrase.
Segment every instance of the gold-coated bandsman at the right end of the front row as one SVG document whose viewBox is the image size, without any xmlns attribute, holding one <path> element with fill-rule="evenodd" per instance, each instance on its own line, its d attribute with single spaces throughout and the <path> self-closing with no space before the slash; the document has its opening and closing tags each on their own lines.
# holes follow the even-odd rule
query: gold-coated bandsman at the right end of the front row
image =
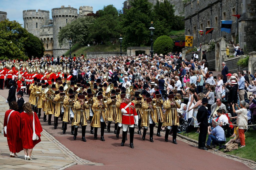
<svg viewBox="0 0 256 170">
<path fill-rule="evenodd" d="M 169 92 L 169 96 L 172 95 L 172 98 L 174 98 L 173 92 Z M 169 100 L 164 101 L 164 109 L 166 109 L 165 116 L 164 116 L 164 123 L 163 126 L 166 126 L 166 132 L 165 132 L 165 141 L 168 142 L 168 136 L 169 132 L 172 126 L 173 130 L 173 143 L 177 144 L 176 142 L 176 136 L 177 136 L 177 127 L 179 126 L 179 117 L 177 108 L 180 108 L 180 104 L 178 102 L 172 101 L 172 98 L 169 98 Z"/>
</svg>

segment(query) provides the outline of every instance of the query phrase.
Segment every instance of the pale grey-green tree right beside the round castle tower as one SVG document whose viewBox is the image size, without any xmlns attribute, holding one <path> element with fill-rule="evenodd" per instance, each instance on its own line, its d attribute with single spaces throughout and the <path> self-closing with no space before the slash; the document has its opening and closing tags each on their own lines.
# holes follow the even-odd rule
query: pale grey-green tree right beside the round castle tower
<svg viewBox="0 0 256 170">
<path fill-rule="evenodd" d="M 68 23 L 65 27 L 61 28 L 58 34 L 58 41 L 60 45 L 68 42 L 69 38 L 72 39 L 72 43 L 81 43 L 81 45 L 86 45 L 91 41 L 89 38 L 89 27 L 94 22 L 94 18 L 91 16 L 80 17 L 76 20 Z"/>
</svg>

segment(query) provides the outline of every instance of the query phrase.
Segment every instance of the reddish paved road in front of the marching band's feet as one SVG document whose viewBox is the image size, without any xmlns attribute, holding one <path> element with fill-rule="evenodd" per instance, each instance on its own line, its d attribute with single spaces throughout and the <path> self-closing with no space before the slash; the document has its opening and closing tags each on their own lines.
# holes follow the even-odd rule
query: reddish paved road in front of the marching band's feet
<svg viewBox="0 0 256 170">
<path fill-rule="evenodd" d="M 7 97 L 8 90 L 0 90 L 0 94 Z M 27 95 L 25 95 L 24 100 L 28 100 Z M 169 142 L 165 142 L 164 134 L 162 134 L 162 137 L 157 137 L 154 134 L 153 143 L 149 141 L 149 133 L 146 135 L 145 141 L 135 134 L 135 148 L 131 149 L 129 148 L 129 134 L 125 146 L 120 146 L 121 138 L 117 139 L 113 134 L 114 124 L 112 124 L 110 133 L 105 130 L 104 137 L 106 141 L 104 142 L 99 139 L 94 140 L 93 135 L 89 134 L 90 127 L 87 126 L 87 142 L 83 142 L 81 141 L 81 128 L 78 130 L 77 140 L 74 141 L 73 136 L 70 134 L 71 124 L 68 125 L 66 134 L 62 134 L 61 126 L 54 129 L 53 123 L 49 126 L 47 122 L 42 121 L 42 118 L 40 122 L 48 133 L 52 134 L 80 158 L 104 164 L 104 166 L 73 165 L 68 169 L 219 169 L 220 167 L 225 167 L 226 169 L 249 169 L 241 162 L 200 150 L 195 145 L 189 145 L 181 140 L 177 140 L 178 145 L 175 145 L 171 142 L 171 136 L 169 136 Z M 99 137 L 100 129 L 98 130 Z"/>
</svg>

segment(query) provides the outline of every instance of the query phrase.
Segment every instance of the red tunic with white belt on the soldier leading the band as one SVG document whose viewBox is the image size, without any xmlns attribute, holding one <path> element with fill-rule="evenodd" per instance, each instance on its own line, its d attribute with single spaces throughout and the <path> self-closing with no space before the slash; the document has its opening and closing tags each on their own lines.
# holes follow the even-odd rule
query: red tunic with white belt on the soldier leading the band
<svg viewBox="0 0 256 170">
<path fill-rule="evenodd" d="M 128 106 L 127 106 L 128 105 Z M 133 125 L 135 123 L 134 116 L 137 116 L 133 102 L 120 104 L 120 110 L 125 109 L 127 113 L 122 113 L 122 124 Z"/>
</svg>

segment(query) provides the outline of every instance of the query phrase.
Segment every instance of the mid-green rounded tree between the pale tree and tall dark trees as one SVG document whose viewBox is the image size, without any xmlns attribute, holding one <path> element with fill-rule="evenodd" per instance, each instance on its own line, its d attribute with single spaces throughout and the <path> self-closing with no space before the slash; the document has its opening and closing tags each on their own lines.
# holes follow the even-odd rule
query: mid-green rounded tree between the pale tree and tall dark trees
<svg viewBox="0 0 256 170">
<path fill-rule="evenodd" d="M 104 6 L 89 30 L 90 37 L 98 42 L 117 39 L 121 32 L 118 10 L 113 5 Z"/>
</svg>

